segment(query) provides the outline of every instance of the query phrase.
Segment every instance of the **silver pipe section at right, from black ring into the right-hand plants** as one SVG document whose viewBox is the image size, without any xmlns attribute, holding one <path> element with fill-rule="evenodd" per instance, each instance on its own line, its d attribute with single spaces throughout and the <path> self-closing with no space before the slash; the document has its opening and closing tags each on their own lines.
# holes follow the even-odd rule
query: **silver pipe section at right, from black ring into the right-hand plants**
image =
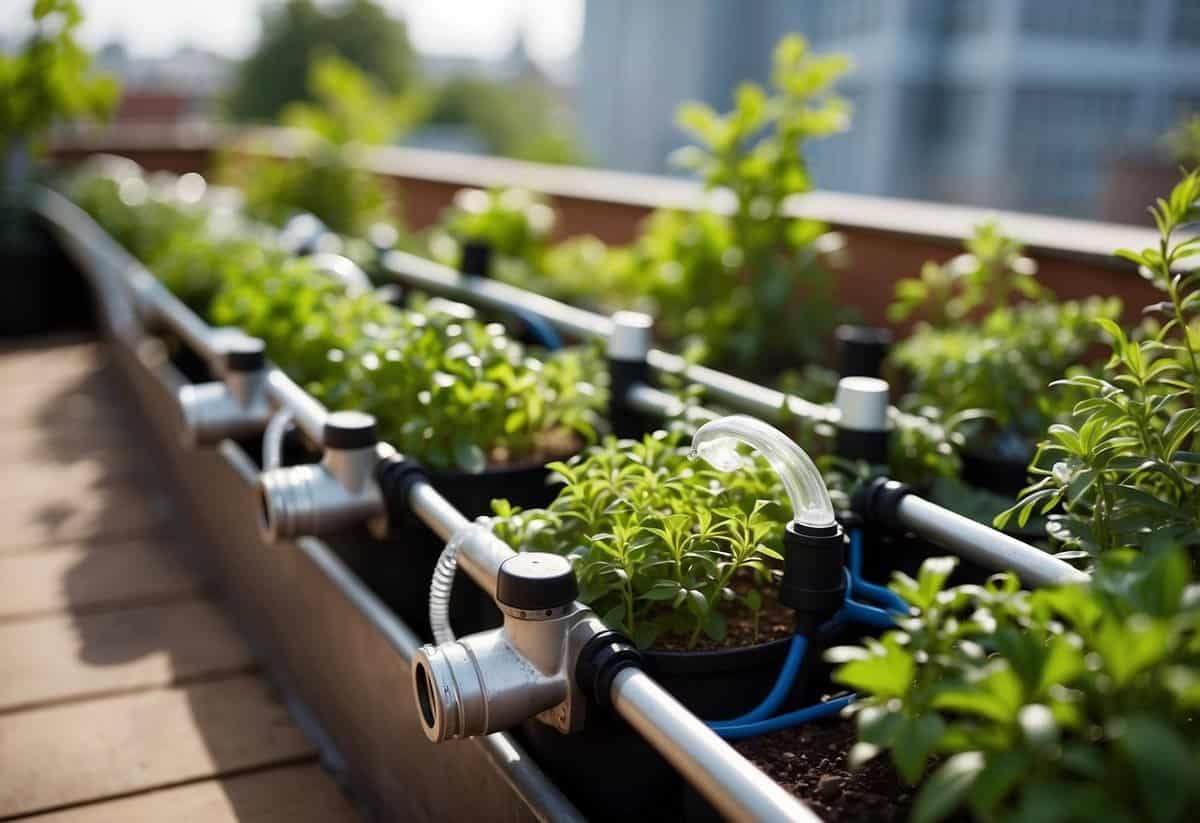
<svg viewBox="0 0 1200 823">
<path fill-rule="evenodd" d="M 1061 585 L 1090 579 L 1086 572 L 1036 546 L 916 494 L 905 494 L 895 511 L 901 524 L 923 537 L 988 569 L 1012 570 L 1026 585 Z"/>
</svg>

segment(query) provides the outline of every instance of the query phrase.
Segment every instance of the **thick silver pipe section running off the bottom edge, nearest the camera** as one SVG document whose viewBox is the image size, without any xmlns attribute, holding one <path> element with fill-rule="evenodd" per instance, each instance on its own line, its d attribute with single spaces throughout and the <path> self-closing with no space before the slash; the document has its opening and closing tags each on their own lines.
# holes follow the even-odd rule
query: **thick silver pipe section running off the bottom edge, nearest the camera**
<svg viewBox="0 0 1200 823">
<path fill-rule="evenodd" d="M 619 672 L 611 697 L 617 713 L 727 819 L 820 822 L 640 668 Z"/>
</svg>

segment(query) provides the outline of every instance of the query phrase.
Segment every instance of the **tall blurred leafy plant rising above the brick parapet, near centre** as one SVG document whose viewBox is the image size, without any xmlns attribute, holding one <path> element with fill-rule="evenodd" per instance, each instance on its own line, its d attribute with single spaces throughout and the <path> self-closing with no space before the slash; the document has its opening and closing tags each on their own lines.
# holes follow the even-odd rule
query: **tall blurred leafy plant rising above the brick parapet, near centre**
<svg viewBox="0 0 1200 823">
<path fill-rule="evenodd" d="M 788 217 L 785 202 L 812 187 L 804 144 L 846 127 L 848 107 L 832 91 L 845 67 L 844 58 L 815 56 L 788 36 L 775 50 L 769 90 L 743 85 L 724 115 L 698 103 L 680 108 L 697 144 L 674 161 L 706 188 L 732 194 L 728 214 L 660 210 L 628 247 L 594 238 L 535 247 L 500 276 L 601 311 L 648 311 L 666 342 L 698 344 L 718 364 L 763 368 L 817 358 L 839 320 L 832 277 L 818 263 L 824 227 Z"/>
</svg>

